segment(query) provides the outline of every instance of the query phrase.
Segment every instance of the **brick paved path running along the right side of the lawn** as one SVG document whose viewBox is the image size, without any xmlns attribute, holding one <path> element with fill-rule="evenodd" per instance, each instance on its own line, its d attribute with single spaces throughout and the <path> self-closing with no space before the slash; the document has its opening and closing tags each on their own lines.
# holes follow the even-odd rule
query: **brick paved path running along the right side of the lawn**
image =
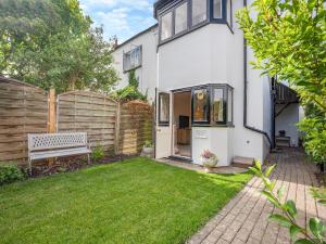
<svg viewBox="0 0 326 244">
<path fill-rule="evenodd" d="M 311 187 L 318 187 L 314 165 L 305 162 L 303 153 L 289 150 L 272 154 L 271 163 L 277 163 L 272 176 L 276 189 L 284 185 L 284 198 L 297 202 L 300 224 L 318 216 L 326 220 L 326 208 L 317 204 L 310 194 Z M 267 220 L 274 209 L 259 192 L 261 180 L 254 177 L 246 188 L 233 198 L 213 219 L 211 219 L 188 244 L 288 244 L 291 240 L 288 230 Z"/>
</svg>

